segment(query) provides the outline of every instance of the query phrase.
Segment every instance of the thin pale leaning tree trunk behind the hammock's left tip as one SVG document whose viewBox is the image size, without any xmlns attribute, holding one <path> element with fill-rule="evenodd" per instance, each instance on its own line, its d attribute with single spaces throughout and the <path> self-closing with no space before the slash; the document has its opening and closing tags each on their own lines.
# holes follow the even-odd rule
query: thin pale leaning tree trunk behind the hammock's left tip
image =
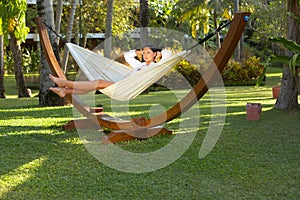
<svg viewBox="0 0 300 200">
<path fill-rule="evenodd" d="M 77 0 L 72 0 L 71 3 L 71 10 L 69 13 L 69 24 L 68 24 L 68 29 L 67 29 L 67 41 L 71 41 L 72 39 L 72 30 L 73 30 L 73 23 L 74 23 L 74 16 L 76 12 L 76 4 Z M 63 72 L 66 74 L 67 73 L 67 65 L 68 65 L 68 59 L 69 59 L 69 50 L 67 47 L 64 49 L 64 56 L 63 56 Z"/>
</svg>

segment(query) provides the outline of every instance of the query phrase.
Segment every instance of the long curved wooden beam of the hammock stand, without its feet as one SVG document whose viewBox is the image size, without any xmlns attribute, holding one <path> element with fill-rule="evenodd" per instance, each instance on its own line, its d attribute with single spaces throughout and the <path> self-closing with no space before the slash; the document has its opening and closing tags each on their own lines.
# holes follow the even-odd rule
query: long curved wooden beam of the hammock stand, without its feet
<svg viewBox="0 0 300 200">
<path fill-rule="evenodd" d="M 143 121 L 142 124 L 136 123 L 135 120 L 125 121 L 116 119 L 108 115 L 97 115 L 90 112 L 90 107 L 87 106 L 77 95 L 68 95 L 67 98 L 72 102 L 74 107 L 87 117 L 92 123 L 111 130 L 145 130 L 147 128 L 156 127 L 171 121 L 181 115 L 183 112 L 191 108 L 209 89 L 212 83 L 216 81 L 218 75 L 224 70 L 228 60 L 232 56 L 235 47 L 237 46 L 242 33 L 247 24 L 246 18 L 250 15 L 249 12 L 239 12 L 234 15 L 228 33 L 223 41 L 221 48 L 216 54 L 211 67 L 202 76 L 203 78 L 193 87 L 193 89 L 177 104 L 166 112 Z M 61 67 L 59 66 L 52 46 L 48 37 L 47 29 L 42 22 L 42 19 L 36 18 L 38 32 L 45 56 L 49 67 L 55 75 L 60 78 L 66 78 Z"/>
</svg>

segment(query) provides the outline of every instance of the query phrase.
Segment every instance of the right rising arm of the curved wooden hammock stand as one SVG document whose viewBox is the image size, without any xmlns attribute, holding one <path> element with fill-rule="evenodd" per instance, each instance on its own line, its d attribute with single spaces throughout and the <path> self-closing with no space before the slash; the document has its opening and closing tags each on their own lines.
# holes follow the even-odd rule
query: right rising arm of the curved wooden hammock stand
<svg viewBox="0 0 300 200">
<path fill-rule="evenodd" d="M 173 120 L 191 108 L 208 91 L 209 87 L 216 81 L 218 75 L 222 73 L 232 56 L 244 32 L 249 15 L 249 12 L 239 12 L 234 15 L 222 46 L 215 55 L 209 69 L 203 74 L 202 79 L 198 81 L 193 89 L 180 102 L 166 111 L 166 113 L 147 120 L 147 124 L 149 123 L 151 124 L 150 126 L 152 126 Z M 166 120 L 162 121 L 161 119 Z"/>
</svg>

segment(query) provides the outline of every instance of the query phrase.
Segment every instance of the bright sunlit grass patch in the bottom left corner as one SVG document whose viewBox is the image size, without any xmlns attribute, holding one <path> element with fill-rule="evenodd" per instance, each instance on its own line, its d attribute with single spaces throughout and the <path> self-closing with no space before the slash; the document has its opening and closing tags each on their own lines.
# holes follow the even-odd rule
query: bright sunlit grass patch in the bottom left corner
<svg viewBox="0 0 300 200">
<path fill-rule="evenodd" d="M 34 177 L 35 172 L 43 165 L 47 160 L 47 157 L 43 156 L 37 158 L 31 162 L 28 162 L 7 174 L 0 176 L 0 198 L 5 196 L 5 193 L 13 191 L 18 188 L 19 185 L 28 181 L 28 179 Z"/>
</svg>

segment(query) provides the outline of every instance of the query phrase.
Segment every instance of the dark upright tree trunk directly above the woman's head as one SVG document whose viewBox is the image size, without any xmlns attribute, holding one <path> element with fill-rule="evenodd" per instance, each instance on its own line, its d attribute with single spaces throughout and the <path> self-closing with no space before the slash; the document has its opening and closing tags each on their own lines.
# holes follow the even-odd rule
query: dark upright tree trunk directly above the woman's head
<svg viewBox="0 0 300 200">
<path fill-rule="evenodd" d="M 148 0 L 140 0 L 140 23 L 141 23 L 141 47 L 148 43 L 148 29 L 149 23 Z"/>
</svg>

